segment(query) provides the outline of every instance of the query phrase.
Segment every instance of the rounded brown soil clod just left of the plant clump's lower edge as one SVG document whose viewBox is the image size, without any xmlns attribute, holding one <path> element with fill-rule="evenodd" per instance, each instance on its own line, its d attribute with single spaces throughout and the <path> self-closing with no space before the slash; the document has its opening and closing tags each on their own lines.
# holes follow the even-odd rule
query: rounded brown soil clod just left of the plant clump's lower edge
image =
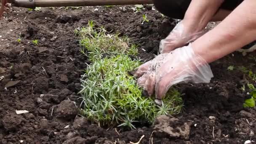
<svg viewBox="0 0 256 144">
<path fill-rule="evenodd" d="M 55 111 L 56 117 L 63 118 L 65 120 L 74 119 L 78 114 L 78 109 L 75 107 L 74 102 L 69 100 L 62 101 Z"/>
</svg>

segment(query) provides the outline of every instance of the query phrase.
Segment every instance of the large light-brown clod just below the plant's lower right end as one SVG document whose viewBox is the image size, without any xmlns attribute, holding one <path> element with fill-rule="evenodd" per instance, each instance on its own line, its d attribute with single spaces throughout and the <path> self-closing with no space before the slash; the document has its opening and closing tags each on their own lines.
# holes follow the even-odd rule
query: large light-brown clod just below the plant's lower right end
<svg viewBox="0 0 256 144">
<path fill-rule="evenodd" d="M 179 121 L 179 119 L 175 117 L 160 115 L 156 118 L 153 127 L 154 131 L 156 131 L 156 135 L 161 137 L 170 136 L 171 138 L 189 139 L 192 122 L 184 123 L 183 125 L 175 125 L 175 127 L 171 125 L 177 121 Z"/>
</svg>

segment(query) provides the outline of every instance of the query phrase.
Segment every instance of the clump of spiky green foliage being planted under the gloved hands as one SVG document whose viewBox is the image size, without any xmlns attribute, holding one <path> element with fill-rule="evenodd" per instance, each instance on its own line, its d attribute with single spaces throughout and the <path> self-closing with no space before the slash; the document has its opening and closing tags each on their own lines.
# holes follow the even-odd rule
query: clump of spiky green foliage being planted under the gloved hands
<svg viewBox="0 0 256 144">
<path fill-rule="evenodd" d="M 75 30 L 80 45 L 92 63 L 81 78 L 83 115 L 101 125 L 135 128 L 134 122 L 152 123 L 157 115 L 177 114 L 182 111 L 183 101 L 175 89 L 168 91 L 162 107 L 154 100 L 141 96 L 141 88 L 128 72 L 141 62 L 131 59 L 137 49 L 130 47 L 127 37 L 111 35 L 103 28 L 96 29 L 92 21 L 88 27 Z"/>
</svg>

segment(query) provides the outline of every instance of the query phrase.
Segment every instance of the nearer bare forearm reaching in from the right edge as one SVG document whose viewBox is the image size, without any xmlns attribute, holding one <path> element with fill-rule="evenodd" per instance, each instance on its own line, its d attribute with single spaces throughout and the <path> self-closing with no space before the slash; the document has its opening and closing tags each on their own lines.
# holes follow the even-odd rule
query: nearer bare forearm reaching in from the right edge
<svg viewBox="0 0 256 144">
<path fill-rule="evenodd" d="M 245 0 L 217 27 L 192 43 L 208 63 L 256 40 L 256 0 Z"/>
</svg>

